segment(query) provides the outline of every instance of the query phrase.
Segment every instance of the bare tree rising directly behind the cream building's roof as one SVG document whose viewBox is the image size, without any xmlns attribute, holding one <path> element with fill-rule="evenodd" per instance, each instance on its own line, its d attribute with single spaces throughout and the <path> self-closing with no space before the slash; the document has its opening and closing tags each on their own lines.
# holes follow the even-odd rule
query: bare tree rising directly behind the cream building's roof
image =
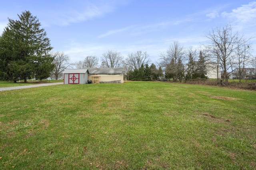
<svg viewBox="0 0 256 170">
<path fill-rule="evenodd" d="M 120 52 L 109 50 L 108 52 L 102 54 L 102 67 L 120 67 L 122 66 L 124 57 Z"/>
</svg>

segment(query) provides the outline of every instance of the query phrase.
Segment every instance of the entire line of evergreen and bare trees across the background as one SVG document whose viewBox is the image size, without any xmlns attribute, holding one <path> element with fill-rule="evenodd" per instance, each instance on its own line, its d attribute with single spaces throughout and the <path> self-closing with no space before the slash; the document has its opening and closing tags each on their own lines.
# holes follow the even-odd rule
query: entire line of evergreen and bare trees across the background
<svg viewBox="0 0 256 170">
<path fill-rule="evenodd" d="M 56 79 L 66 68 L 123 67 L 128 80 L 159 80 L 163 76 L 174 82 L 207 78 L 210 69 L 222 72 L 225 83 L 229 75 L 238 71 L 241 80 L 244 68 L 255 62 L 252 59 L 250 39 L 238 32 L 233 33 L 230 25 L 216 27 L 206 37 L 208 45 L 200 49 L 184 49 L 174 41 L 166 52 L 152 63 L 146 51 L 129 53 L 126 58 L 114 50 L 102 54 L 101 64 L 96 56 L 86 56 L 83 61 L 70 63 L 63 52 L 51 52 L 53 47 L 46 31 L 40 28 L 39 20 L 29 11 L 18 15 L 19 20 L 8 18 L 8 24 L 0 36 L 0 80 L 42 80 L 49 76 Z M 255 64 L 256 65 L 256 64 Z M 220 75 L 218 75 L 219 77 Z"/>
</svg>

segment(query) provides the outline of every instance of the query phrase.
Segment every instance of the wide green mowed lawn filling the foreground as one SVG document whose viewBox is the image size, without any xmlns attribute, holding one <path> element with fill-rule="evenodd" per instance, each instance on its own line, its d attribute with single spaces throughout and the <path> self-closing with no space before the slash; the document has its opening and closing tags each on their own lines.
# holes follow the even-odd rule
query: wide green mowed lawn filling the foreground
<svg viewBox="0 0 256 170">
<path fill-rule="evenodd" d="M 0 92 L 0 169 L 256 169 L 256 92 L 167 82 Z"/>
</svg>

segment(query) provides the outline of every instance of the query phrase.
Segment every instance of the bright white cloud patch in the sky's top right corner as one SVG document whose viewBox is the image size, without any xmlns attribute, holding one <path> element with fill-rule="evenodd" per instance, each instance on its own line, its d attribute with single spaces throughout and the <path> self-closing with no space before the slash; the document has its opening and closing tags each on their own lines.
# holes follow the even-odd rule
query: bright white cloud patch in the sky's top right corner
<svg viewBox="0 0 256 170">
<path fill-rule="evenodd" d="M 232 12 L 222 12 L 224 18 L 228 18 L 235 22 L 247 23 L 255 22 L 256 19 L 256 2 L 250 2 L 247 5 L 242 5 L 239 8 L 232 10 Z"/>
</svg>

